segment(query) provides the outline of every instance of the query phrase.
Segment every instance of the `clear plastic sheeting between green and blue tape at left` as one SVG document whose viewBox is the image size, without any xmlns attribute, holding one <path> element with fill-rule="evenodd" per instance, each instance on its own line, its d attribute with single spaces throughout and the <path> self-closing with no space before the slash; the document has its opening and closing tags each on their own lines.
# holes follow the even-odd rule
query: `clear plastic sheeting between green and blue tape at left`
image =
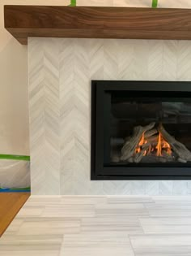
<svg viewBox="0 0 191 256">
<path fill-rule="evenodd" d="M 0 159 L 0 188 L 30 187 L 30 163 Z"/>
</svg>

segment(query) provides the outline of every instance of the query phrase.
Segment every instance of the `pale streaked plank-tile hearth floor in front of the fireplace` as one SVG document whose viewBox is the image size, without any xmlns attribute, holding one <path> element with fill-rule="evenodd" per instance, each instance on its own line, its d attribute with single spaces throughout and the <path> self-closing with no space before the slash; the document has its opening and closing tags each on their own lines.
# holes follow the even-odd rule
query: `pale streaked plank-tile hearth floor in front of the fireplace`
<svg viewBox="0 0 191 256">
<path fill-rule="evenodd" d="M 191 256 L 191 197 L 30 197 L 2 256 Z"/>
</svg>

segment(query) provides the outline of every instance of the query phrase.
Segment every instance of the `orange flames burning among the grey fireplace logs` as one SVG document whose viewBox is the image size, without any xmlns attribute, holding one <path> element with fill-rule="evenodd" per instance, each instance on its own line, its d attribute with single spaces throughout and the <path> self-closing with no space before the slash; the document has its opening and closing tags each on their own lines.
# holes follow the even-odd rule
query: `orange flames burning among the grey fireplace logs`
<svg viewBox="0 0 191 256">
<path fill-rule="evenodd" d="M 148 144 L 148 145 L 147 145 Z M 147 147 L 146 147 L 147 145 Z M 142 151 L 142 148 L 144 149 L 144 146 L 147 148 L 143 151 L 143 156 L 149 155 L 149 154 L 155 154 L 156 156 L 163 156 L 163 154 L 172 154 L 171 146 L 168 144 L 168 141 L 166 141 L 161 132 L 159 132 L 158 137 L 156 138 L 156 141 L 148 143 L 145 139 L 144 132 L 142 133 L 142 137 L 135 149 L 135 154 L 140 153 Z"/>
</svg>

